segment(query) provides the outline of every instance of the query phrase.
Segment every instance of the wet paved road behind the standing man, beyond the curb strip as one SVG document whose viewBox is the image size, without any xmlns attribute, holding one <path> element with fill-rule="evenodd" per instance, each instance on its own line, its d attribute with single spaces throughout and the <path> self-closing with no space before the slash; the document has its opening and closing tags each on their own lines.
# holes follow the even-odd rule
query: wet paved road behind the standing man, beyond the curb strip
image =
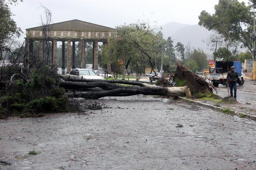
<svg viewBox="0 0 256 170">
<path fill-rule="evenodd" d="M 226 97 L 227 87 L 219 85 L 217 92 L 221 97 Z M 256 81 L 246 80 L 244 85 L 237 85 L 237 100 L 239 102 L 252 102 L 256 104 Z"/>
</svg>

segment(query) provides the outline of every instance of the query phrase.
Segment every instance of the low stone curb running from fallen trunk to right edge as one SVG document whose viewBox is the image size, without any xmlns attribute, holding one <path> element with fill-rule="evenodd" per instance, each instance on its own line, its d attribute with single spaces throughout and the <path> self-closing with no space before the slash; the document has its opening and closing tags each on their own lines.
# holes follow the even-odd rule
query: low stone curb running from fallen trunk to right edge
<svg viewBox="0 0 256 170">
<path fill-rule="evenodd" d="M 203 102 L 194 101 L 194 100 L 191 100 L 191 99 L 187 99 L 185 97 L 178 96 L 178 99 L 181 99 L 181 100 L 183 100 L 185 102 L 193 103 L 193 104 L 198 105 L 198 106 L 209 108 L 209 109 L 212 109 L 212 110 L 215 110 L 215 111 L 224 111 L 224 108 L 220 108 L 220 107 L 217 107 L 217 106 L 214 106 L 214 105 L 209 105 L 209 104 L 203 103 Z M 247 113 L 242 113 L 242 112 L 234 111 L 232 109 L 230 109 L 230 110 L 233 111 L 236 116 L 239 116 L 240 114 L 243 114 L 244 117 L 246 117 L 248 119 L 256 120 L 256 116 L 255 115 L 250 115 L 250 114 L 247 114 Z"/>
</svg>

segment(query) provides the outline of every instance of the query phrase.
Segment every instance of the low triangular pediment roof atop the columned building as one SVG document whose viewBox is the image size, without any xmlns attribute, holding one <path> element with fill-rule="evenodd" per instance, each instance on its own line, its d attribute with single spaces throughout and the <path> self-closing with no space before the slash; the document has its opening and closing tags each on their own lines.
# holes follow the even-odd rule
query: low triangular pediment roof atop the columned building
<svg viewBox="0 0 256 170">
<path fill-rule="evenodd" d="M 114 31 L 114 28 L 100 26 L 93 23 L 88 23 L 81 20 L 69 20 L 60 23 L 53 23 L 49 25 L 51 31 Z M 42 30 L 43 26 L 27 28 L 27 31 L 30 30 Z"/>
</svg>

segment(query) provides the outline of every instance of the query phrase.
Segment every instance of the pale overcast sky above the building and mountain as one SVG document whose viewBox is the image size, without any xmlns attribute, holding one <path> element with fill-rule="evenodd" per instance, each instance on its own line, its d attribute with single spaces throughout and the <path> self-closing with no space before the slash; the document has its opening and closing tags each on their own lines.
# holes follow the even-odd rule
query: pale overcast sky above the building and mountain
<svg viewBox="0 0 256 170">
<path fill-rule="evenodd" d="M 218 0 L 23 0 L 11 10 L 24 33 L 26 28 L 41 26 L 40 3 L 52 11 L 53 23 L 78 19 L 115 28 L 138 20 L 157 21 L 159 26 L 173 21 L 198 24 L 200 12 L 213 13 Z"/>
</svg>

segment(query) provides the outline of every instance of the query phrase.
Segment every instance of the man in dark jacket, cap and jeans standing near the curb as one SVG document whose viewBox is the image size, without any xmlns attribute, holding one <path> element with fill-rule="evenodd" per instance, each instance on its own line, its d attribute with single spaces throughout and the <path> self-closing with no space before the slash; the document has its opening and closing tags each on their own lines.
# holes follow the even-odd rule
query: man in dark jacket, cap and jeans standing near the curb
<svg viewBox="0 0 256 170">
<path fill-rule="evenodd" d="M 238 74 L 235 71 L 235 67 L 232 66 L 231 71 L 228 72 L 227 74 L 227 81 L 229 82 L 230 86 L 230 96 L 233 97 L 233 89 L 234 89 L 234 98 L 236 99 L 236 82 L 238 79 Z"/>
</svg>

